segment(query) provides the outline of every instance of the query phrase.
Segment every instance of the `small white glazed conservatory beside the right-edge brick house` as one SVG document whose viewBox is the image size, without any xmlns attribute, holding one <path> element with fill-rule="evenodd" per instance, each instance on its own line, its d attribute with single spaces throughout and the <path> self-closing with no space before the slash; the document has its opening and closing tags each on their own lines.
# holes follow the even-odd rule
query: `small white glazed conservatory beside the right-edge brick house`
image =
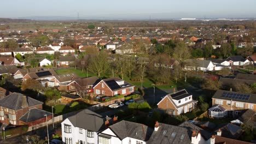
<svg viewBox="0 0 256 144">
<path fill-rule="evenodd" d="M 208 115 L 210 117 L 222 118 L 228 115 L 228 111 L 224 107 L 216 105 L 208 110 Z"/>
</svg>

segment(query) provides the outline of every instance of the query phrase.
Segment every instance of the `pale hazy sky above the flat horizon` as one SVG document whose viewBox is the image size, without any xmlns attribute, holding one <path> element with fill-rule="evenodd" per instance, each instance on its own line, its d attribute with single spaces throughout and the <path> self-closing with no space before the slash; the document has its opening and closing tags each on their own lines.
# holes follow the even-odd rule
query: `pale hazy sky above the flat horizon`
<svg viewBox="0 0 256 144">
<path fill-rule="evenodd" d="M 0 17 L 65 16 L 87 19 L 256 17 L 255 0 L 8 0 Z"/>
</svg>

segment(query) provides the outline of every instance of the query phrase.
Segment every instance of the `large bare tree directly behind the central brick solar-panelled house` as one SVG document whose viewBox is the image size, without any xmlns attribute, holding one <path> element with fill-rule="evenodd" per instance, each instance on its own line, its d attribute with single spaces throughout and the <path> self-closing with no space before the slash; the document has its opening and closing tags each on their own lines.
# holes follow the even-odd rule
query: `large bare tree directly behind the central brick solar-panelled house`
<svg viewBox="0 0 256 144">
<path fill-rule="evenodd" d="M 109 69 L 107 53 L 100 51 L 90 56 L 89 69 L 90 71 L 97 73 L 98 77 L 100 77 L 102 73 L 106 73 L 106 71 Z"/>
</svg>

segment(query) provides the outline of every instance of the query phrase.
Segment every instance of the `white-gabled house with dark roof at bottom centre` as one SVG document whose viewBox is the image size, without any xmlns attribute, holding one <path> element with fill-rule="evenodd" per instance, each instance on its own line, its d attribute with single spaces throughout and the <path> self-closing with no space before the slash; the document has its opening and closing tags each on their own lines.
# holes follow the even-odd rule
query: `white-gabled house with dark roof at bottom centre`
<svg viewBox="0 0 256 144">
<path fill-rule="evenodd" d="M 147 125 L 123 120 L 101 131 L 98 134 L 98 143 L 146 144 L 152 132 L 153 129 Z"/>
</svg>

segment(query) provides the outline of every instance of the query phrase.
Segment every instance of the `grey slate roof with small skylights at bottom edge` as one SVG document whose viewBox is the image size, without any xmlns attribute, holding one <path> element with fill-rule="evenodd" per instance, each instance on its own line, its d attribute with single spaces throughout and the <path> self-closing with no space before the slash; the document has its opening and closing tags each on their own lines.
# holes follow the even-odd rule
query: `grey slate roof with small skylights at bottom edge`
<svg viewBox="0 0 256 144">
<path fill-rule="evenodd" d="M 166 134 L 164 134 L 166 131 Z M 172 133 L 176 133 L 174 137 L 172 137 Z M 184 139 L 181 139 L 181 136 L 184 135 Z M 150 139 L 147 141 L 147 144 L 166 144 L 166 143 L 191 143 L 191 135 L 188 133 L 187 128 L 178 127 L 174 125 L 159 123 L 158 131 L 153 131 Z"/>
</svg>

